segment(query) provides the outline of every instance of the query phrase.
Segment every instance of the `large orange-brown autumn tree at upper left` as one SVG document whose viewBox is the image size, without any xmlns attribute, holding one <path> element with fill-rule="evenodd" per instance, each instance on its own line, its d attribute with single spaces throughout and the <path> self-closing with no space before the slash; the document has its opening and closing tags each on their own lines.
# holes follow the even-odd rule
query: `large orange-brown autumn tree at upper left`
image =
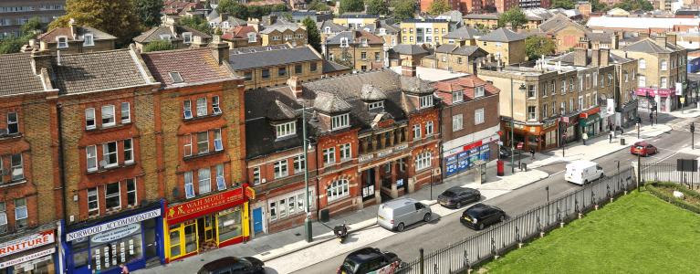
<svg viewBox="0 0 700 274">
<path fill-rule="evenodd" d="M 131 43 L 131 38 L 141 32 L 133 1 L 67 0 L 66 15 L 48 28 L 68 26 L 71 18 L 78 26 L 92 26 L 117 37 L 119 47 Z"/>
</svg>

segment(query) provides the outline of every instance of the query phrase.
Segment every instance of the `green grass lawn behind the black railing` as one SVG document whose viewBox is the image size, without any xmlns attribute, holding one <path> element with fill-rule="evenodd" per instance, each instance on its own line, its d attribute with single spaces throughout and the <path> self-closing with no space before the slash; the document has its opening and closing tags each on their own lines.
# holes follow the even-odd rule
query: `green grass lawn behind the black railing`
<svg viewBox="0 0 700 274">
<path fill-rule="evenodd" d="M 480 270 L 700 273 L 700 216 L 633 192 Z"/>
</svg>

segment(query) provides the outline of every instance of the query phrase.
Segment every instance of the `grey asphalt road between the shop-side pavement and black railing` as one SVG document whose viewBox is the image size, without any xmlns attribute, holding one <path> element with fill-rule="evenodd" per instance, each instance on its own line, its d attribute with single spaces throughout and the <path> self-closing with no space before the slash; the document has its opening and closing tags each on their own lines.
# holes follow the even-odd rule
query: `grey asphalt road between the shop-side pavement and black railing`
<svg viewBox="0 0 700 274">
<path fill-rule="evenodd" d="M 642 115 L 644 115 L 644 113 L 642 113 Z M 644 122 L 648 122 L 648 120 Z M 661 115 L 659 116 L 659 122 L 674 124 L 682 121 L 671 116 Z M 695 156 L 677 153 L 678 150 L 690 146 L 690 137 L 690 132 L 684 131 L 683 129 L 674 129 L 672 132 L 664 133 L 651 140 L 647 140 L 658 147 L 660 152 L 656 155 L 643 158 L 643 162 L 675 163 L 675 159 L 678 158 L 695 159 Z M 621 150 L 596 160 L 597 163 L 601 164 L 607 175 L 617 173 L 617 161 L 621 162 L 621 169 L 623 169 L 631 166 L 632 161 L 637 161 L 637 157 L 632 155 L 629 150 Z M 489 200 L 487 203 L 501 207 L 509 216 L 517 216 L 527 211 L 529 208 L 546 202 L 547 192 L 545 191 L 545 186 L 549 186 L 550 199 L 555 199 L 578 189 L 580 186 L 564 182 L 564 165 L 565 163 L 557 163 L 538 168 L 539 170 L 549 173 L 549 178 L 529 184 L 506 195 L 498 196 Z M 460 224 L 460 214 L 457 213 L 461 212 L 462 210 L 455 210 L 452 214 L 441 216 L 440 219 L 434 220 L 432 223 L 411 227 L 402 233 L 397 233 L 391 237 L 373 243 L 370 247 L 380 248 L 382 251 L 391 251 L 396 253 L 399 258 L 402 258 L 404 261 L 412 261 L 414 258 L 418 257 L 419 248 L 424 248 L 425 253 L 428 253 L 439 248 L 444 248 L 461 238 L 474 235 L 474 230 Z M 337 257 L 321 261 L 306 269 L 300 269 L 295 273 L 335 273 L 347 254 L 348 253 L 341 254 Z"/>
</svg>

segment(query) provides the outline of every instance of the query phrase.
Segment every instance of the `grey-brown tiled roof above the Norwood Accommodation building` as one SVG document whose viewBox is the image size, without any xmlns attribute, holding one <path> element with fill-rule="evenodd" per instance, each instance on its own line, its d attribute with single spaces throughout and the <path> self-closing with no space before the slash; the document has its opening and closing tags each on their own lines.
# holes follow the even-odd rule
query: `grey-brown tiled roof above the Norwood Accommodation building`
<svg viewBox="0 0 700 274">
<path fill-rule="evenodd" d="M 130 49 L 61 55 L 51 58 L 53 86 L 61 94 L 120 89 L 151 84 L 148 69 L 142 68 Z"/>
</svg>

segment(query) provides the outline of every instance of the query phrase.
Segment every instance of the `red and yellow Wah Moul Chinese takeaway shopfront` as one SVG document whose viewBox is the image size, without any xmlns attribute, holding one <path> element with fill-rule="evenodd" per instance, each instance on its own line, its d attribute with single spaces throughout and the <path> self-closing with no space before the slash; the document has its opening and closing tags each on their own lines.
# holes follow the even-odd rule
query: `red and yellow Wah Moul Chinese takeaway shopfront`
<svg viewBox="0 0 700 274">
<path fill-rule="evenodd" d="M 247 240 L 250 235 L 249 199 L 255 199 L 255 191 L 244 184 L 225 192 L 168 205 L 164 227 L 167 230 L 167 260 Z"/>
</svg>

